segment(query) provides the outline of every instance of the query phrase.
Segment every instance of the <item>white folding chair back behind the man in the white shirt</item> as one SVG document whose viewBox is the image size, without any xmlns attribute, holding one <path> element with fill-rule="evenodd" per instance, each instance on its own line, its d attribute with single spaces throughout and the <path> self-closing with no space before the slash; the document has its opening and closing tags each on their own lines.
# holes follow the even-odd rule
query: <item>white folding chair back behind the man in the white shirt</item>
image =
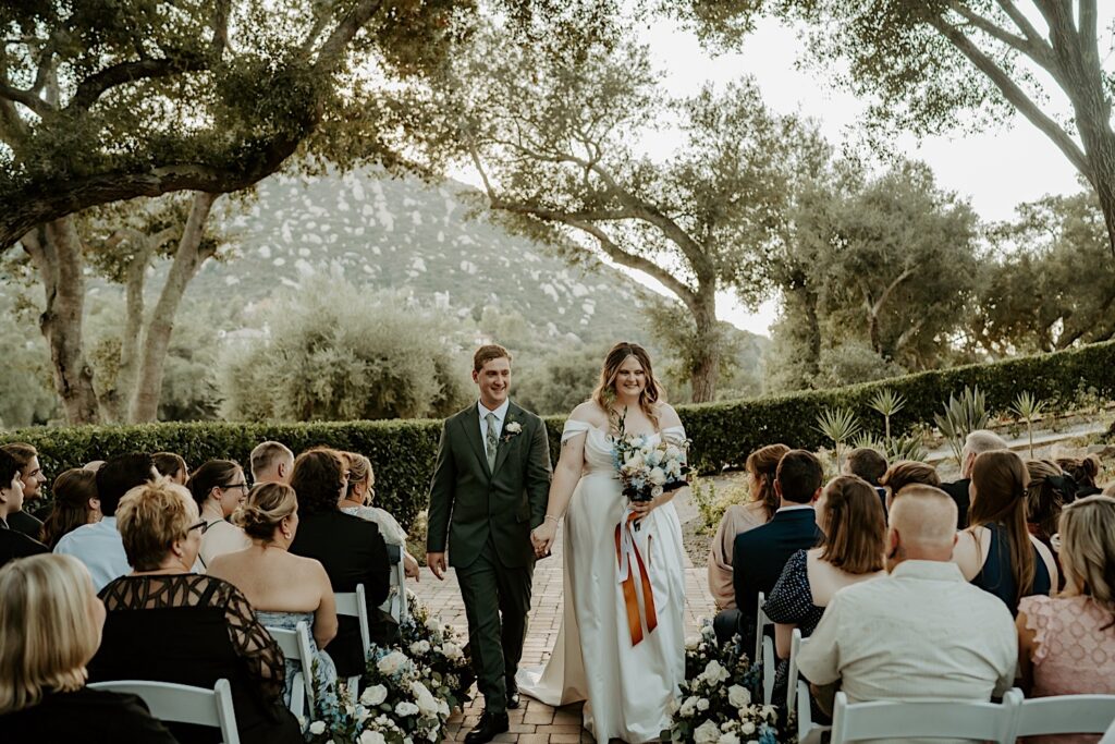
<svg viewBox="0 0 1115 744">
<path fill-rule="evenodd" d="M 925 700 L 912 703 L 847 702 L 836 693 L 833 708 L 832 744 L 871 738 L 975 738 L 982 742 L 1014 742 L 1014 728 L 1022 692 L 1011 689 L 1002 703 Z"/>
</svg>

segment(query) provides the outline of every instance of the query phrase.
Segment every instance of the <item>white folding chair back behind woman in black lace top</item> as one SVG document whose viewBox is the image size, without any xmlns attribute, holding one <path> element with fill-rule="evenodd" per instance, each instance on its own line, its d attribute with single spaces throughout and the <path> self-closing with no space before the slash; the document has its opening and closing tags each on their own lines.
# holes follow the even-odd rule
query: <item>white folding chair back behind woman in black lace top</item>
<svg viewBox="0 0 1115 744">
<path fill-rule="evenodd" d="M 213 689 L 144 679 L 95 682 L 89 687 L 135 695 L 159 721 L 220 728 L 224 744 L 240 744 L 236 712 L 232 707 L 232 688 L 227 679 L 217 679 Z"/>
</svg>

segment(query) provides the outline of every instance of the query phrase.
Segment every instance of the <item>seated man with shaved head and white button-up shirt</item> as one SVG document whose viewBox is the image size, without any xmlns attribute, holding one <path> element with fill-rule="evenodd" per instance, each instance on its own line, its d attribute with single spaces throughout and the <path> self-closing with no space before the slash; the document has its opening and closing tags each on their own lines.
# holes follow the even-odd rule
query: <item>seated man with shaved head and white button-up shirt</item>
<svg viewBox="0 0 1115 744">
<path fill-rule="evenodd" d="M 956 524 L 956 503 L 939 489 L 911 485 L 894 501 L 890 576 L 836 592 L 797 657 L 822 708 L 837 683 L 850 703 L 986 702 L 1010 688 L 1010 612 L 952 563 Z"/>
</svg>

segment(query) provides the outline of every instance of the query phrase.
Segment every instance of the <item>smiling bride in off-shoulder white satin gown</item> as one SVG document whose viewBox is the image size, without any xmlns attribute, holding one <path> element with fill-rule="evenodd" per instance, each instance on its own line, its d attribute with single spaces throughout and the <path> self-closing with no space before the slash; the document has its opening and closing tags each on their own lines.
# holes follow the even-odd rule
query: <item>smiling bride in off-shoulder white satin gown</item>
<svg viewBox="0 0 1115 744">
<path fill-rule="evenodd" d="M 518 688 L 553 706 L 588 700 L 584 725 L 601 743 L 657 740 L 685 677 L 681 525 L 670 503 L 676 492 L 628 503 L 612 462 L 621 416 L 628 434 L 685 442 L 678 414 L 661 396 L 647 351 L 636 344 L 612 347 L 592 398 L 565 422 L 545 521 L 532 533 L 544 555 L 569 508 L 561 631 L 544 668 L 518 671 Z M 626 533 L 637 557 L 619 550 L 617 525 L 627 528 L 627 510 L 639 518 L 638 529 Z M 631 557 L 623 583 L 621 553 Z"/>
</svg>

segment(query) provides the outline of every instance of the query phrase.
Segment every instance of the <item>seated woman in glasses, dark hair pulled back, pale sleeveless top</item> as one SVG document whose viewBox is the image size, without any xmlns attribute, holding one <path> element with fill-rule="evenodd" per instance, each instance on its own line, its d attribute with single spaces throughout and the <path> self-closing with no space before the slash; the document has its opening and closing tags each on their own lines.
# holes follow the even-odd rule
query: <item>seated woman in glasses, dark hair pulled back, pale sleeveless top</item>
<svg viewBox="0 0 1115 744">
<path fill-rule="evenodd" d="M 240 465 L 231 460 L 211 460 L 194 471 L 186 487 L 205 522 L 198 554 L 202 566 L 207 567 L 217 555 L 252 544 L 243 530 L 225 521 L 248 495 L 248 481 Z"/>
</svg>

